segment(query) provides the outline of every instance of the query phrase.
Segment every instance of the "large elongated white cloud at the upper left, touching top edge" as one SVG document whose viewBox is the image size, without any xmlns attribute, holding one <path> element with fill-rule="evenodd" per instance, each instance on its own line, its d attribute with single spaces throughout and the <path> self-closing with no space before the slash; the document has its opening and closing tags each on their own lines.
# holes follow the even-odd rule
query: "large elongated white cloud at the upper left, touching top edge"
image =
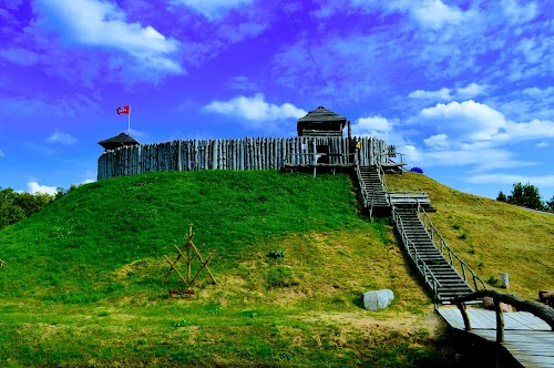
<svg viewBox="0 0 554 368">
<path fill-rule="evenodd" d="M 126 22 L 125 13 L 114 2 L 38 0 L 35 7 L 41 14 L 38 24 L 57 31 L 68 44 L 117 51 L 130 57 L 143 73 L 184 72 L 170 57 L 176 53 L 179 42 L 151 25 Z"/>
</svg>

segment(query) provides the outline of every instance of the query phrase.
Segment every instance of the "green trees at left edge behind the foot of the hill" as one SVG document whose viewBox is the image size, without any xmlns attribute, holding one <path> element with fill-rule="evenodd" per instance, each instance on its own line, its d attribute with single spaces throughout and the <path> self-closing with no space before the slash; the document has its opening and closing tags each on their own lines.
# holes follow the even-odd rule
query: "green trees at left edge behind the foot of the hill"
<svg viewBox="0 0 554 368">
<path fill-rule="evenodd" d="M 75 185 L 71 185 L 68 191 L 59 187 L 54 195 L 16 192 L 11 187 L 0 188 L 0 229 L 42 211 L 45 206 L 74 188 L 76 188 Z"/>
</svg>

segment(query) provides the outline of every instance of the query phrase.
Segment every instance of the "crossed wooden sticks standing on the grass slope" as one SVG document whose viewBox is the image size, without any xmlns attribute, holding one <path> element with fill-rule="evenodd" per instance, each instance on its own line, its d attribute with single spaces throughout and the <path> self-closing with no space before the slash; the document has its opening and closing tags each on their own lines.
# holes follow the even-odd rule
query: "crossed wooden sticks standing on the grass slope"
<svg viewBox="0 0 554 368">
<path fill-rule="evenodd" d="M 209 264 L 209 262 L 212 260 L 212 257 L 214 256 L 214 254 L 211 254 L 207 257 L 207 259 L 204 260 L 204 258 L 201 255 L 201 252 L 194 245 L 193 239 L 194 239 L 193 224 L 191 224 L 191 225 L 188 225 L 188 235 L 187 235 L 187 239 L 186 239 L 186 243 L 185 243 L 185 246 L 183 247 L 183 249 L 179 249 L 176 245 L 174 245 L 175 249 L 178 253 L 177 258 L 175 258 L 175 262 L 171 262 L 171 259 L 166 255 L 164 255 L 165 260 L 167 260 L 167 263 L 170 264 L 170 270 L 167 270 L 167 274 L 165 275 L 163 284 L 165 284 L 167 282 L 172 272 L 175 272 L 177 274 L 177 276 L 181 278 L 181 280 L 187 287 L 186 290 L 183 290 L 183 289 L 170 290 L 170 295 L 172 297 L 173 297 L 174 293 L 175 294 L 188 294 L 188 297 L 191 297 L 191 294 L 194 294 L 194 292 L 191 289 L 191 287 L 193 286 L 194 282 L 196 280 L 196 278 L 198 277 L 198 275 L 201 274 L 201 272 L 203 269 L 206 269 L 209 277 L 212 278 L 212 283 L 214 285 L 217 284 L 214 275 L 212 274 L 212 272 L 209 270 L 209 268 L 207 266 Z M 181 258 L 185 259 L 185 263 L 186 263 L 186 268 L 187 268 L 186 278 L 178 272 L 178 269 L 176 267 L 176 265 Z M 198 268 L 196 274 L 193 276 L 192 275 L 192 263 L 193 263 L 193 259 L 195 259 L 195 258 L 198 258 L 198 260 L 201 262 L 201 267 Z"/>
</svg>

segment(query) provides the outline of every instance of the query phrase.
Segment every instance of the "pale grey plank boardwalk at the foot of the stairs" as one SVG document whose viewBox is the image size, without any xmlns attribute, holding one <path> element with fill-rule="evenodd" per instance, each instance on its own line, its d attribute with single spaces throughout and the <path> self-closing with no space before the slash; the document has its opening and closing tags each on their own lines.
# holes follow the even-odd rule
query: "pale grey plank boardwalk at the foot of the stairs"
<svg viewBox="0 0 554 368">
<path fill-rule="evenodd" d="M 464 331 L 462 314 L 455 307 L 439 307 L 437 311 L 458 330 Z M 494 310 L 468 308 L 471 327 L 468 334 L 488 341 L 496 341 Z M 538 317 L 527 311 L 504 313 L 504 343 L 502 346 L 523 366 L 554 367 L 554 331 Z"/>
</svg>

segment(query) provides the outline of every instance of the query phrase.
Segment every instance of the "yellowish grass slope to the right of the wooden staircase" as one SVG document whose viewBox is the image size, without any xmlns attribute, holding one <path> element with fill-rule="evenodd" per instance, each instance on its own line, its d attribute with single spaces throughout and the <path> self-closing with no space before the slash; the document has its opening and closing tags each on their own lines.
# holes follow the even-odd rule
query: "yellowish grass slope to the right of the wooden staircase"
<svg viewBox="0 0 554 368">
<path fill-rule="evenodd" d="M 529 299 L 554 287 L 554 216 L 458 192 L 432 178 L 387 176 L 389 191 L 428 192 L 430 217 L 447 243 L 494 288 L 509 273 L 510 289 Z"/>
</svg>

